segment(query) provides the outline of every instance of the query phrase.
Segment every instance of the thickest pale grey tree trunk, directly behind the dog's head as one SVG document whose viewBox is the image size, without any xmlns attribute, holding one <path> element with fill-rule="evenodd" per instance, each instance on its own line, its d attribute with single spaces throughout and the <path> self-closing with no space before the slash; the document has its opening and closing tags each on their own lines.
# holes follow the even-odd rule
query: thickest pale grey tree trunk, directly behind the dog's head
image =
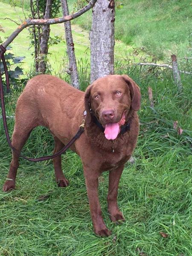
<svg viewBox="0 0 192 256">
<path fill-rule="evenodd" d="M 91 83 L 114 73 L 114 0 L 97 0 L 90 32 Z"/>
</svg>

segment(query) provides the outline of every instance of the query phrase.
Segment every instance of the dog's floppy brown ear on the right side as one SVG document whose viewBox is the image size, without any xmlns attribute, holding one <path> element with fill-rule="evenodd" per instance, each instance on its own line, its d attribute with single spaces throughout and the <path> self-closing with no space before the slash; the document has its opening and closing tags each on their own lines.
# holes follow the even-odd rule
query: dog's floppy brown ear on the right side
<svg viewBox="0 0 192 256">
<path fill-rule="evenodd" d="M 128 84 L 131 92 L 131 108 L 133 108 L 134 111 L 138 111 L 141 106 L 140 87 L 129 76 L 122 75 L 122 78 Z"/>
</svg>

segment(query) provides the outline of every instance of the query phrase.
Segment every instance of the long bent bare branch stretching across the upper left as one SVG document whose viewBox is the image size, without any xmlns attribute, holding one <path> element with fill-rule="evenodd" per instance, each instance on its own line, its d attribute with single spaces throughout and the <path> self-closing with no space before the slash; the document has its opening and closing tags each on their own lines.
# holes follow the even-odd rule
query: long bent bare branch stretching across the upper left
<svg viewBox="0 0 192 256">
<path fill-rule="evenodd" d="M 28 18 L 20 26 L 18 26 L 17 29 L 7 38 L 7 40 L 3 43 L 3 46 L 6 48 L 13 41 L 13 39 L 15 39 L 16 36 L 27 26 L 51 25 L 51 24 L 64 23 L 69 20 L 73 20 L 73 19 L 81 16 L 85 12 L 87 12 L 89 9 L 91 9 L 95 5 L 96 1 L 97 0 L 90 0 L 90 2 L 86 6 L 84 6 L 81 10 L 79 10 L 78 12 L 76 12 L 72 15 L 68 15 L 65 17 L 47 19 L 47 20 Z"/>
</svg>

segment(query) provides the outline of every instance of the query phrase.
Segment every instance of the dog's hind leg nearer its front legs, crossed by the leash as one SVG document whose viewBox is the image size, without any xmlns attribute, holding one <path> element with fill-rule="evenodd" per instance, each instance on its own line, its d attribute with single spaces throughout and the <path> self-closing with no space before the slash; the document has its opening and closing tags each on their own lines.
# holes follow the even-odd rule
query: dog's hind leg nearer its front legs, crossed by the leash
<svg viewBox="0 0 192 256">
<path fill-rule="evenodd" d="M 54 140 L 55 140 L 55 149 L 53 154 L 57 153 L 64 147 L 64 144 L 57 137 L 54 136 Z M 69 181 L 66 179 L 61 169 L 61 156 L 53 158 L 53 165 L 55 169 L 55 179 L 58 186 L 60 187 L 68 186 Z"/>
</svg>

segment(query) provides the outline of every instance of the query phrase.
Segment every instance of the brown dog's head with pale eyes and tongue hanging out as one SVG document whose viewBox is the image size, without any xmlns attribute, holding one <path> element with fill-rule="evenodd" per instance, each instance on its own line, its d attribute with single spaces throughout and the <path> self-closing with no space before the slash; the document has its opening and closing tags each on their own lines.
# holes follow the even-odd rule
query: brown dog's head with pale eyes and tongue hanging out
<svg viewBox="0 0 192 256">
<path fill-rule="evenodd" d="M 97 79 L 85 92 L 86 123 L 91 122 L 91 109 L 105 128 L 105 137 L 114 140 L 130 108 L 140 109 L 140 100 L 140 88 L 128 76 L 109 75 Z"/>
</svg>

